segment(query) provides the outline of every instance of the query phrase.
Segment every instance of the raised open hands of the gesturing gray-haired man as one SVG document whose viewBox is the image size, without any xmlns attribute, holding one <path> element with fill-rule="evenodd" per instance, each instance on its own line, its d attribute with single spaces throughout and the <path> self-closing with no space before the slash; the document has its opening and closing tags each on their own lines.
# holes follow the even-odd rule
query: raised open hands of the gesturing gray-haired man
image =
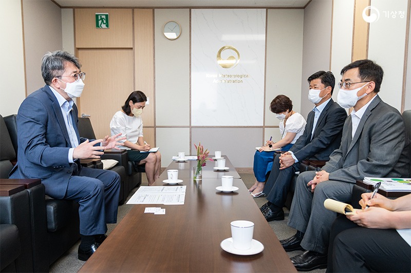
<svg viewBox="0 0 411 273">
<path fill-rule="evenodd" d="M 105 136 L 104 139 L 89 141 L 86 140 L 81 143 L 79 146 L 74 148 L 73 150 L 73 159 L 87 159 L 87 158 L 100 158 L 100 155 L 104 154 L 101 150 L 106 149 L 117 149 L 117 145 L 123 146 L 124 143 L 120 143 L 119 141 L 125 140 L 126 138 L 119 138 L 121 133 L 108 137 Z M 94 146 L 98 143 L 101 143 L 101 146 Z"/>
</svg>

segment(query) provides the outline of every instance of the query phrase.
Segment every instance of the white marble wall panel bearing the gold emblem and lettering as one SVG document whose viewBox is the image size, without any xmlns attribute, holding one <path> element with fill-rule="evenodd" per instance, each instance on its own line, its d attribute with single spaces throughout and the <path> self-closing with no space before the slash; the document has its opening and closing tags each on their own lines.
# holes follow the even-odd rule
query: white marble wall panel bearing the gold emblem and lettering
<svg viewBox="0 0 411 273">
<path fill-rule="evenodd" d="M 193 9 L 191 15 L 191 125 L 263 125 L 264 9 Z M 233 56 L 238 64 L 222 68 Z"/>
</svg>

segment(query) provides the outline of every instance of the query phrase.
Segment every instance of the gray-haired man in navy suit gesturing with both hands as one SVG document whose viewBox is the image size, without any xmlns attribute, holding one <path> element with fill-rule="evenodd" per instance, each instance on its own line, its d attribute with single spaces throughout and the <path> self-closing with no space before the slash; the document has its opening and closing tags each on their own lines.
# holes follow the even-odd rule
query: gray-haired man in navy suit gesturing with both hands
<svg viewBox="0 0 411 273">
<path fill-rule="evenodd" d="M 106 238 L 106 223 L 117 222 L 120 177 L 116 172 L 82 168 L 79 161 L 100 158 L 101 150 L 121 145 L 118 135 L 102 140 L 80 139 L 77 106 L 85 73 L 68 52 L 43 56 L 46 85 L 30 94 L 18 109 L 18 162 L 10 178 L 41 179 L 54 199 L 79 202 L 81 243 L 78 257 L 86 261 Z"/>
</svg>

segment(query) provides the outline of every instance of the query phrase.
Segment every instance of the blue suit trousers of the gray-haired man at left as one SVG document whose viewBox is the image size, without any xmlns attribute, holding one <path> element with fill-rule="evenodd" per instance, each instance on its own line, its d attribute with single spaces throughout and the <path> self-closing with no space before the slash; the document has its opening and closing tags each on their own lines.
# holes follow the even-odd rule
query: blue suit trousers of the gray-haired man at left
<svg viewBox="0 0 411 273">
<path fill-rule="evenodd" d="M 81 168 L 68 183 L 64 199 L 79 202 L 80 234 L 107 232 L 106 223 L 117 222 L 120 177 L 114 171 Z"/>
</svg>

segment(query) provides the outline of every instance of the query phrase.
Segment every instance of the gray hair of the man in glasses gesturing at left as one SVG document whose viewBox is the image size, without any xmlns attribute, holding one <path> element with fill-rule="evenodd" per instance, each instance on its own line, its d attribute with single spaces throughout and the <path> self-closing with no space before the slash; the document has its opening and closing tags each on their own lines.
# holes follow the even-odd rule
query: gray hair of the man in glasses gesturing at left
<svg viewBox="0 0 411 273">
<path fill-rule="evenodd" d="M 44 82 L 50 85 L 54 77 L 63 75 L 67 62 L 72 63 L 78 69 L 81 67 L 79 59 L 66 51 L 57 50 L 44 54 L 42 58 L 42 76 Z"/>
</svg>

